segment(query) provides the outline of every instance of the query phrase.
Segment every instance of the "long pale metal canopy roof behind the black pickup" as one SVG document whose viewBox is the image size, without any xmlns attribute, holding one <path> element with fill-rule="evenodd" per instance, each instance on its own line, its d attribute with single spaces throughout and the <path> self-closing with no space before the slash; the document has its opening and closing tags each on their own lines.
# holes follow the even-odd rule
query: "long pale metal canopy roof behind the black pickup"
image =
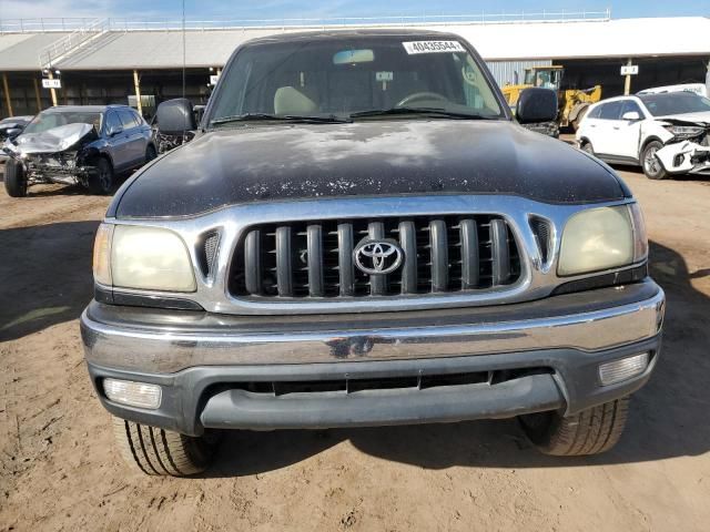
<svg viewBox="0 0 710 532">
<path fill-rule="evenodd" d="M 560 13 L 554 13 L 560 14 Z M 463 17 L 463 16 L 460 16 Z M 486 17 L 488 20 L 486 20 Z M 189 68 L 221 66 L 241 43 L 268 34 L 336 30 L 338 28 L 422 28 L 462 35 L 487 61 L 537 59 L 598 59 L 666 55 L 710 55 L 710 19 L 680 17 L 612 20 L 588 13 L 569 13 L 552 20 L 549 13 L 497 20 L 494 16 L 446 20 L 400 18 L 385 22 L 344 19 L 342 23 L 252 25 L 225 28 L 230 21 L 190 21 L 185 34 Z M 471 20 L 474 19 L 474 20 Z M 73 20 L 73 19 L 69 19 Z M 359 21 L 359 23 L 358 23 Z M 0 71 L 38 71 L 52 66 L 62 71 L 175 69 L 182 66 L 182 33 L 174 21 L 158 22 L 104 19 L 82 21 L 73 31 L 42 21 L 20 24 L 4 21 L 0 30 Z M 237 22 L 237 21 L 232 21 Z M 243 22 L 243 21 L 242 21 Z M 260 25 L 257 22 L 262 22 Z M 274 21 L 271 21 L 274 22 Z M 285 21 L 284 21 L 285 22 Z M 17 31 L 9 31 L 12 29 Z"/>
</svg>

